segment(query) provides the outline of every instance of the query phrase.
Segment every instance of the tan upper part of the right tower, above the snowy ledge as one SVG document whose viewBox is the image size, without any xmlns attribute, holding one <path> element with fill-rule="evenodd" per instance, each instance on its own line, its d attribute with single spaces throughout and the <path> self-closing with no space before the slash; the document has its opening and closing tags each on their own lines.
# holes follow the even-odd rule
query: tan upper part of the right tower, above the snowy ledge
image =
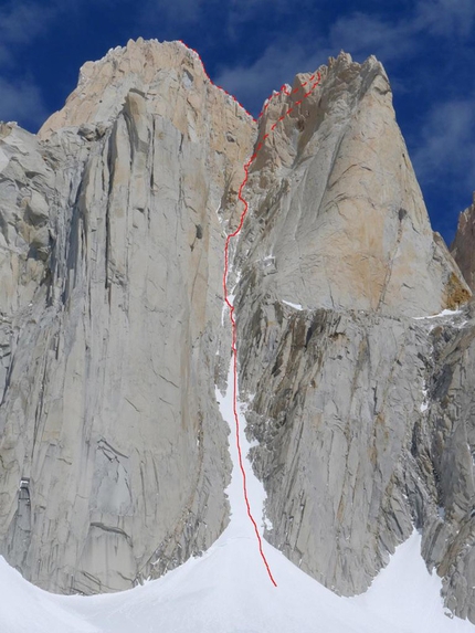
<svg viewBox="0 0 475 633">
<path fill-rule="evenodd" d="M 319 72 L 300 105 L 304 87 L 274 98 L 261 119 L 258 141 L 293 108 L 253 163 L 242 257 L 272 256 L 265 288 L 306 308 L 418 316 L 466 300 L 434 240 L 381 64 L 341 54 Z"/>
</svg>

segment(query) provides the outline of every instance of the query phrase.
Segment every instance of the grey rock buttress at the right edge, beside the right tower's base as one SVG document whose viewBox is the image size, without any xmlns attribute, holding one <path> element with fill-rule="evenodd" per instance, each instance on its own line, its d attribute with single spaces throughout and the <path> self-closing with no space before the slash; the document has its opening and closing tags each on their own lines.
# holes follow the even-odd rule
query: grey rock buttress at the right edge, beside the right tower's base
<svg viewBox="0 0 475 633">
<path fill-rule="evenodd" d="M 475 623 L 475 304 L 430 323 L 426 411 L 413 429 L 408 487 L 446 605 Z"/>
</svg>

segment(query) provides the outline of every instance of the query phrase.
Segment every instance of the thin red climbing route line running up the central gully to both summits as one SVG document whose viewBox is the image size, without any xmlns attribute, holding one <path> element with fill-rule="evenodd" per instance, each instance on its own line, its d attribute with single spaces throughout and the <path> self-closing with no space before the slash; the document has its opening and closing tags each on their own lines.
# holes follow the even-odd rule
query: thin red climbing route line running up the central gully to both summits
<svg viewBox="0 0 475 633">
<path fill-rule="evenodd" d="M 187 49 L 189 49 L 189 46 L 187 46 L 187 44 L 184 44 L 183 42 L 181 42 Z M 193 51 L 193 49 L 189 49 L 191 51 Z M 203 71 L 207 75 L 207 77 L 209 78 L 209 81 L 211 82 L 208 73 L 204 70 L 204 65 L 203 62 L 201 61 L 201 57 L 199 55 L 199 53 L 197 53 L 197 51 L 193 51 L 193 53 L 197 54 L 198 59 L 201 62 L 201 65 L 203 66 Z M 317 77 L 317 80 L 314 82 L 315 77 Z M 267 109 L 271 101 L 279 95 L 281 93 L 291 96 L 295 93 L 297 93 L 299 89 L 304 88 L 305 86 L 307 86 L 308 84 L 312 84 L 310 89 L 308 92 L 306 92 L 303 97 L 300 98 L 300 101 L 295 102 L 294 106 L 291 107 L 289 109 L 287 109 L 272 126 L 271 126 L 271 131 L 265 134 L 261 140 L 261 143 L 257 145 L 257 147 L 255 148 L 254 154 L 251 156 L 251 158 L 247 160 L 247 162 L 244 165 L 244 171 L 245 171 L 245 176 L 244 176 L 244 180 L 241 182 L 241 187 L 239 188 L 239 193 L 238 193 L 238 198 L 241 200 L 241 202 L 244 204 L 244 210 L 241 213 L 241 219 L 240 219 L 240 223 L 238 229 L 233 232 L 230 233 L 226 236 L 226 241 L 225 241 L 225 245 L 224 245 L 224 273 L 223 273 L 223 293 L 224 293 L 224 300 L 228 305 L 228 307 L 230 308 L 230 320 L 231 320 L 231 330 L 232 330 L 232 345 L 231 345 L 231 349 L 233 352 L 233 413 L 234 413 L 234 422 L 235 422 L 235 440 L 236 440 L 236 446 L 238 446 L 238 455 L 239 455 L 239 465 L 240 465 L 240 470 L 241 470 L 241 474 L 242 474 L 242 484 L 243 484 L 243 493 L 244 493 L 244 500 L 245 500 L 245 505 L 246 505 L 246 509 L 247 509 L 247 516 L 254 527 L 254 531 L 255 531 L 255 536 L 257 538 L 257 542 L 258 542 L 258 551 L 261 553 L 261 558 L 265 565 L 265 568 L 267 570 L 268 577 L 272 581 L 272 583 L 274 584 L 274 587 L 277 587 L 277 583 L 274 580 L 274 577 L 272 576 L 272 571 L 271 568 L 268 566 L 267 559 L 265 558 L 265 553 L 264 550 L 262 549 L 262 538 L 261 535 L 258 534 L 258 528 L 257 528 L 257 524 L 255 523 L 254 517 L 252 516 L 252 511 L 251 511 L 251 504 L 249 503 L 249 496 L 247 496 L 247 484 L 246 484 L 246 476 L 245 476 L 245 470 L 244 470 L 244 463 L 243 463 L 243 458 L 242 458 L 242 451 L 241 451 L 241 440 L 240 440 L 240 422 L 239 422 L 239 413 L 238 413 L 238 348 L 236 348 L 236 323 L 235 323 L 235 318 L 234 318 L 234 306 L 231 304 L 231 302 L 229 300 L 229 294 L 228 294 L 228 284 L 226 284 L 226 278 L 228 278 L 228 272 L 229 272 L 229 246 L 230 246 L 230 242 L 233 238 L 235 238 L 239 232 L 241 231 L 243 223 L 244 223 L 244 218 L 247 214 L 247 210 L 249 210 L 249 203 L 245 200 L 245 198 L 243 198 L 242 192 L 243 189 L 247 182 L 247 178 L 249 178 L 249 170 L 252 166 L 252 163 L 254 162 L 254 160 L 257 157 L 258 151 L 262 149 L 264 141 L 271 136 L 271 133 L 273 133 L 275 130 L 275 128 L 277 127 L 277 124 L 282 120 L 284 120 L 287 115 L 289 115 L 297 105 L 302 104 L 302 102 L 310 96 L 310 94 L 314 92 L 314 89 L 318 86 L 318 84 L 321 81 L 321 76 L 320 73 L 314 73 L 312 75 L 312 77 L 309 77 L 309 80 L 307 80 L 306 82 L 304 82 L 300 86 L 294 88 L 292 92 L 288 92 L 286 86 L 283 85 L 281 91 L 278 93 L 274 93 L 270 96 L 270 98 L 267 99 L 267 102 L 265 103 L 261 114 L 258 115 L 257 119 L 255 119 L 254 117 L 254 122 L 258 120 L 262 115 L 264 114 L 264 112 Z M 312 83 L 314 82 L 314 83 Z M 212 83 L 212 82 L 211 82 Z M 214 84 L 213 84 L 214 85 Z M 230 95 L 228 93 L 228 91 L 224 91 L 223 88 L 221 88 L 220 86 L 217 86 L 218 88 L 220 88 L 222 92 L 224 92 L 228 96 L 230 96 L 232 99 L 234 99 L 240 106 L 241 104 L 238 102 L 238 99 L 233 96 Z M 243 106 L 241 106 L 243 107 Z M 243 108 L 245 110 L 245 108 Z M 245 110 L 247 112 L 247 110 Z M 247 113 L 249 114 L 249 113 Z M 251 115 L 250 115 L 251 116 Z"/>
</svg>

